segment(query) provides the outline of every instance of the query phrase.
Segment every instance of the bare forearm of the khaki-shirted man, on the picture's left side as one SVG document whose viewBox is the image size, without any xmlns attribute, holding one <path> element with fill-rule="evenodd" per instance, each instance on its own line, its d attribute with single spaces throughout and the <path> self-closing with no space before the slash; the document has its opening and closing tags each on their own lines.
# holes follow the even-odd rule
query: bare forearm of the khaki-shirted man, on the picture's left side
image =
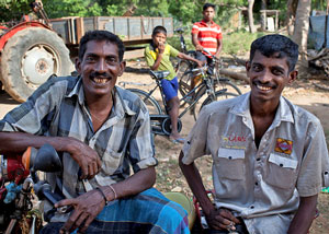
<svg viewBox="0 0 329 234">
<path fill-rule="evenodd" d="M 183 164 L 183 162 L 182 162 L 183 156 L 184 156 L 184 154 L 183 154 L 183 152 L 181 152 L 180 157 L 179 157 L 180 167 L 188 180 L 188 184 L 189 184 L 192 192 L 194 194 L 197 201 L 200 202 L 200 206 L 202 207 L 205 214 L 208 215 L 211 213 L 211 211 L 215 209 L 215 207 L 207 196 L 207 192 L 202 183 L 202 178 L 201 178 L 200 173 L 198 173 L 197 168 L 195 167 L 194 163 L 192 163 L 190 165 Z"/>
</svg>

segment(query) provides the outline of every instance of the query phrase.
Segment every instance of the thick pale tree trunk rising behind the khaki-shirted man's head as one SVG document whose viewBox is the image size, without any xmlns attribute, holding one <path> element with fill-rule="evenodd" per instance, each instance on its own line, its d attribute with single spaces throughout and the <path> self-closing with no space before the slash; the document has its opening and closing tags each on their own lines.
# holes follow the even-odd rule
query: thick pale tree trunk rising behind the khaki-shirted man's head
<svg viewBox="0 0 329 234">
<path fill-rule="evenodd" d="M 296 11 L 296 23 L 293 40 L 299 46 L 299 56 L 302 65 L 307 67 L 307 35 L 309 27 L 309 13 L 311 0 L 299 0 Z"/>
</svg>

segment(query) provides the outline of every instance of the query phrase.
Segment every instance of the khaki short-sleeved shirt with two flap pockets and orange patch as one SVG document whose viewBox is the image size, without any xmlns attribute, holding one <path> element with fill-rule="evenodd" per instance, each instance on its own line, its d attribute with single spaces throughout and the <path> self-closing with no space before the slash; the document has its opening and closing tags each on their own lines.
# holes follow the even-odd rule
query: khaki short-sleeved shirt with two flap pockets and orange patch
<svg viewBox="0 0 329 234">
<path fill-rule="evenodd" d="M 299 197 L 329 186 L 329 157 L 318 118 L 280 98 L 254 144 L 250 93 L 206 106 L 183 147 L 183 163 L 213 157 L 216 206 L 236 211 L 249 233 L 286 233 Z"/>
</svg>

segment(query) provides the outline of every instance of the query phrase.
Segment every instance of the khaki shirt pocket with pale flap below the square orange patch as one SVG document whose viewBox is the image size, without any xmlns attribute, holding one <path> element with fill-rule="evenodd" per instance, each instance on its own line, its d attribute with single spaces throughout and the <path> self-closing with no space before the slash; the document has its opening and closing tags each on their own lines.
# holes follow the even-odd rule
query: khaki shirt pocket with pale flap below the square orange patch
<svg viewBox="0 0 329 234">
<path fill-rule="evenodd" d="M 265 182 L 279 188 L 295 187 L 298 161 L 271 153 Z"/>
</svg>

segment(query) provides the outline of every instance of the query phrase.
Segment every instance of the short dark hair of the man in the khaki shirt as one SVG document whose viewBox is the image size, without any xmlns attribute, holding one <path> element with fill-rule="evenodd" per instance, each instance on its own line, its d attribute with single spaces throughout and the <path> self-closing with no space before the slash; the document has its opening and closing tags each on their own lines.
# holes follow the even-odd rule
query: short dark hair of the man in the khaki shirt
<svg viewBox="0 0 329 234">
<path fill-rule="evenodd" d="M 279 52 L 275 58 L 286 58 L 290 71 L 294 70 L 298 60 L 298 45 L 280 34 L 266 35 L 253 40 L 249 57 L 250 62 L 257 50 L 268 58 L 274 57 L 274 54 Z"/>
</svg>

